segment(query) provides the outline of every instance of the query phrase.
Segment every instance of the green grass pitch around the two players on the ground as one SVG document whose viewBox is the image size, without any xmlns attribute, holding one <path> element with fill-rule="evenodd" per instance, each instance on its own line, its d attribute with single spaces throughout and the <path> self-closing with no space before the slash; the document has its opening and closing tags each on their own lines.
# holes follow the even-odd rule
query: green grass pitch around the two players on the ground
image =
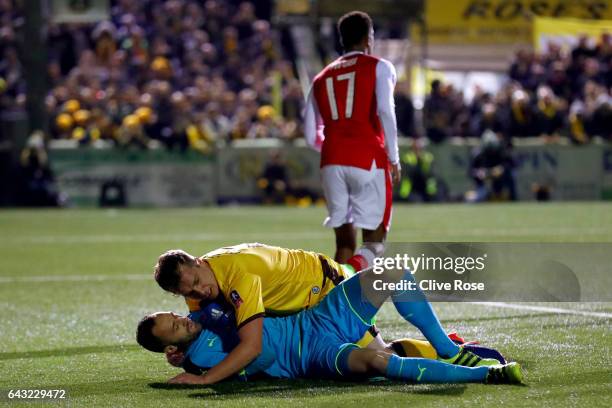
<svg viewBox="0 0 612 408">
<path fill-rule="evenodd" d="M 252 241 L 332 253 L 323 216 L 322 208 L 280 207 L 2 210 L 0 405 L 29 405 L 9 402 L 7 391 L 38 388 L 66 389 L 61 404 L 75 407 L 610 406 L 611 303 L 553 305 L 603 316 L 435 304 L 447 330 L 519 361 L 526 386 L 165 386 L 178 370 L 134 340 L 145 313 L 185 310 L 150 277 L 156 257 L 170 248 L 201 254 Z M 389 240 L 612 242 L 612 205 L 398 205 Z M 378 322 L 388 339 L 419 336 L 386 306 Z"/>
</svg>

